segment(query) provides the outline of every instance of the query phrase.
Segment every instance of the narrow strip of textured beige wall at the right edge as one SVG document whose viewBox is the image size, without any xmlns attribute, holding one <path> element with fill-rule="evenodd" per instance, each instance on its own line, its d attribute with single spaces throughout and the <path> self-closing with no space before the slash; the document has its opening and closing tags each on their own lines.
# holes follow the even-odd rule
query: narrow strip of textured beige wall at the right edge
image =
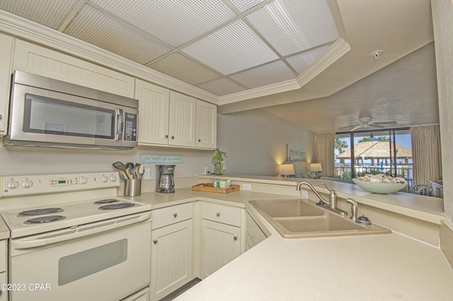
<svg viewBox="0 0 453 301">
<path fill-rule="evenodd" d="M 434 27 L 437 90 L 439 95 L 440 136 L 442 143 L 442 179 L 445 213 L 453 218 L 453 2 L 431 1 Z M 448 183 L 448 184 L 447 184 Z"/>
</svg>

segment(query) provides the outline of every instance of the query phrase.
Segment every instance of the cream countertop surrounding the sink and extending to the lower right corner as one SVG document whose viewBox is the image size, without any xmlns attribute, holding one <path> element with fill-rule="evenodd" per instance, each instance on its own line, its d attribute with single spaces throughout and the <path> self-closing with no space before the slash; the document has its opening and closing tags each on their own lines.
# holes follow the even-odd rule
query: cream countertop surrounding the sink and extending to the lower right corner
<svg viewBox="0 0 453 301">
<path fill-rule="evenodd" d="M 296 198 L 185 188 L 132 199 L 153 209 L 197 200 L 247 207 L 271 233 L 176 300 L 452 300 L 453 271 L 437 247 L 395 232 L 287 240 L 247 206 L 252 199 Z"/>
</svg>

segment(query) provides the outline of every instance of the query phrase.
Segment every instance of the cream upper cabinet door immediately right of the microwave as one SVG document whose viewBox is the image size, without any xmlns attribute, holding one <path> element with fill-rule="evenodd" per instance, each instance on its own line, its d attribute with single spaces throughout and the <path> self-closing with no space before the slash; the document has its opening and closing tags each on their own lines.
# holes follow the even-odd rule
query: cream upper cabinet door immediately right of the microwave
<svg viewBox="0 0 453 301">
<path fill-rule="evenodd" d="M 170 90 L 137 79 L 135 98 L 139 100 L 139 144 L 167 144 Z"/>
</svg>

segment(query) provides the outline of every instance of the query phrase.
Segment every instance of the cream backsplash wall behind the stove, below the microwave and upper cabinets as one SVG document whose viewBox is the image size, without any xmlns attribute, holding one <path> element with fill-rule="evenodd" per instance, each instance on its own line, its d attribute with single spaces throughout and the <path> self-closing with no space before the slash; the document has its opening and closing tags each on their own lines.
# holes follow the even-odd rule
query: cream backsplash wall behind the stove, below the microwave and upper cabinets
<svg viewBox="0 0 453 301">
<path fill-rule="evenodd" d="M 212 151 L 139 147 L 132 151 L 103 151 L 72 148 L 31 148 L 0 145 L 0 175 L 37 175 L 72 172 L 113 171 L 112 163 L 139 163 L 140 153 L 184 155 L 176 166 L 175 177 L 196 177 L 209 165 Z M 156 164 L 144 164 L 151 179 L 156 178 Z"/>
</svg>

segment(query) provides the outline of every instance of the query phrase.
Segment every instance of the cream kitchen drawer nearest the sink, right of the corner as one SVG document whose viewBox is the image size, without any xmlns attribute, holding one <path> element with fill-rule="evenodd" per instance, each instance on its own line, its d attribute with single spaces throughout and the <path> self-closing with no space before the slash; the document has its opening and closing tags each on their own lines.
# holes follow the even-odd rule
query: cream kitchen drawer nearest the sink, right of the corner
<svg viewBox="0 0 453 301">
<path fill-rule="evenodd" d="M 241 208 L 217 203 L 202 203 L 202 218 L 241 227 L 241 210 Z"/>
</svg>

